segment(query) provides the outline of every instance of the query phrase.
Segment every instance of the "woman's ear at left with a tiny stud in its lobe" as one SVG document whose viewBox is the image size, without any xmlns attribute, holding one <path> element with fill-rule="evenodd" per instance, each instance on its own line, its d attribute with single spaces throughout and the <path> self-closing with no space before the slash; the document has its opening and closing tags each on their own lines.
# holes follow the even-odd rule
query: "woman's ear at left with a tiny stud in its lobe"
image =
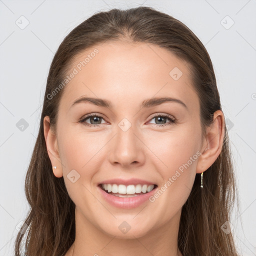
<svg viewBox="0 0 256 256">
<path fill-rule="evenodd" d="M 43 118 L 43 133 L 51 165 L 56 166 L 55 169 L 52 168 L 53 173 L 56 177 L 62 177 L 62 165 L 58 153 L 57 139 L 55 133 L 50 128 L 49 116 L 44 116 Z"/>
</svg>

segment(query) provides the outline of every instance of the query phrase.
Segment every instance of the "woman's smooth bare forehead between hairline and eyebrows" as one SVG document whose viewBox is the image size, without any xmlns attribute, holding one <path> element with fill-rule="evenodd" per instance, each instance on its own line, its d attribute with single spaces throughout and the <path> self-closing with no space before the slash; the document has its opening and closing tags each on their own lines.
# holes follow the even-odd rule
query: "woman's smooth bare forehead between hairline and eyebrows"
<svg viewBox="0 0 256 256">
<path fill-rule="evenodd" d="M 110 41 L 74 57 L 67 75 L 62 103 L 70 106 L 80 96 L 141 103 L 153 96 L 171 96 L 199 107 L 192 87 L 189 63 L 165 48 L 144 42 Z"/>
</svg>

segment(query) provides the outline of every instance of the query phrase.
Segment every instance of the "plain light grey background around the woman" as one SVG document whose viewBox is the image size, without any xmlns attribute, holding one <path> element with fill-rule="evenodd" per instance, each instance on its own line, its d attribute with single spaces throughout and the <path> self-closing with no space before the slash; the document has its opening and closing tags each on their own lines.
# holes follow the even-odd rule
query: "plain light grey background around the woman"
<svg viewBox="0 0 256 256">
<path fill-rule="evenodd" d="M 211 57 L 239 190 L 231 226 L 239 251 L 256 255 L 256 0 L 0 0 L 0 256 L 13 254 L 15 227 L 28 210 L 24 178 L 54 52 L 96 11 L 138 5 L 182 21 Z"/>
</svg>

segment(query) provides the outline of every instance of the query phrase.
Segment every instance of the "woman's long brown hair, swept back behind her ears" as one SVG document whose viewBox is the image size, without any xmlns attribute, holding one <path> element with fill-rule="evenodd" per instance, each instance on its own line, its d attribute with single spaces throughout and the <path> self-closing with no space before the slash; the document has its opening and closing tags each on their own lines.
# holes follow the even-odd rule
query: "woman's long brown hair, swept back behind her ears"
<svg viewBox="0 0 256 256">
<path fill-rule="evenodd" d="M 199 98 L 202 136 L 206 126 L 213 121 L 213 113 L 221 110 L 207 50 L 181 21 L 146 6 L 100 11 L 84 20 L 63 39 L 49 68 L 40 127 L 25 177 L 25 195 L 30 209 L 21 229 L 26 232 L 17 234 L 15 256 L 20 255 L 23 237 L 26 237 L 25 255 L 28 256 L 64 255 L 74 242 L 75 205 L 63 177 L 57 178 L 52 172 L 43 118 L 49 116 L 50 127 L 54 130 L 64 88 L 54 95 L 54 100 L 47 95 L 63 81 L 77 54 L 105 41 L 151 43 L 185 60 Z M 232 232 L 226 234 L 221 230 L 221 225 L 230 219 L 235 195 L 235 176 L 225 126 L 221 152 L 204 172 L 203 189 L 197 173 L 181 209 L 177 242 L 183 256 L 238 255 Z"/>
</svg>

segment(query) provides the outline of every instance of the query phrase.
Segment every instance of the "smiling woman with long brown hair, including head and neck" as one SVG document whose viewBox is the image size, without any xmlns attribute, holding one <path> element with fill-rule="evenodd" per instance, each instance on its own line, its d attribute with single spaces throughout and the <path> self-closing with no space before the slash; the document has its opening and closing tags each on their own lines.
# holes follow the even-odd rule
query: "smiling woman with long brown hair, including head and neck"
<svg viewBox="0 0 256 256">
<path fill-rule="evenodd" d="M 142 6 L 64 38 L 26 175 L 26 255 L 238 255 L 235 190 L 212 63 L 190 29 Z"/>
</svg>

